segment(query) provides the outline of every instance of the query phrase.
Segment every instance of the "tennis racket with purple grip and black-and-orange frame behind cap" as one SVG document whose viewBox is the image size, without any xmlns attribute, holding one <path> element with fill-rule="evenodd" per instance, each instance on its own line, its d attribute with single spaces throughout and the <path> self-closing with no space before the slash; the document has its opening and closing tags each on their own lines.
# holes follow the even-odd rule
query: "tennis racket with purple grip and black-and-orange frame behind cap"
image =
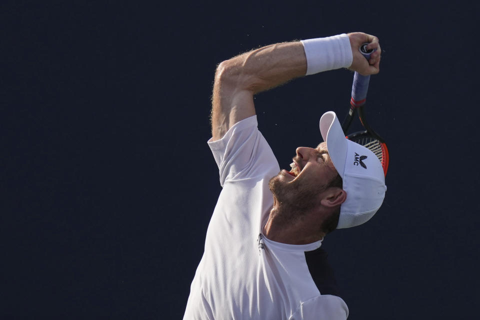
<svg viewBox="0 0 480 320">
<path fill-rule="evenodd" d="M 368 43 L 363 43 L 360 46 L 360 52 L 368 60 L 373 50 L 367 50 L 367 44 Z M 383 138 L 381 138 L 378 133 L 376 133 L 370 127 L 370 125 L 368 125 L 365 117 L 365 112 L 363 110 L 369 82 L 369 75 L 361 75 L 355 71 L 355 74 L 353 75 L 353 84 L 351 86 L 350 108 L 345 116 L 345 119 L 343 120 L 341 128 L 343 129 L 343 133 L 345 134 L 347 139 L 361 144 L 370 149 L 373 153 L 375 153 L 375 155 L 381 162 L 381 166 L 383 167 L 383 173 L 386 176 L 386 171 L 388 170 L 388 148 L 386 147 L 385 140 L 383 140 Z M 360 122 L 365 128 L 365 130 L 347 134 L 348 128 L 351 124 L 351 120 L 353 119 L 357 111 Z"/>
</svg>

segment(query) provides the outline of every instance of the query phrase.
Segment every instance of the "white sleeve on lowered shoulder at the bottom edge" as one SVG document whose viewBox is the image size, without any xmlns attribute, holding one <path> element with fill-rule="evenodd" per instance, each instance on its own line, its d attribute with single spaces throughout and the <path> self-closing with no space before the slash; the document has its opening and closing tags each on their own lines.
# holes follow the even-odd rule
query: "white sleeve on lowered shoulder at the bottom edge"
<svg viewBox="0 0 480 320">
<path fill-rule="evenodd" d="M 289 320 L 345 320 L 348 307 L 342 298 L 335 295 L 318 295 L 301 303 Z"/>
</svg>

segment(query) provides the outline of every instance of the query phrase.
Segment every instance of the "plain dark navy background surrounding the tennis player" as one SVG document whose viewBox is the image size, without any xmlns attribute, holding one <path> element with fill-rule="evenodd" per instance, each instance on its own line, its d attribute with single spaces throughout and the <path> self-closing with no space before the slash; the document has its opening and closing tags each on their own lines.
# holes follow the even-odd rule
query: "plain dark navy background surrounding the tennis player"
<svg viewBox="0 0 480 320">
<path fill-rule="evenodd" d="M 478 4 L 38 2 L 0 3 L 1 318 L 181 318 L 220 191 L 216 64 L 350 31 L 380 38 L 367 111 L 391 158 L 374 218 L 323 242 L 349 318 L 476 315 Z M 280 167 L 351 80 L 256 96 Z"/>
</svg>

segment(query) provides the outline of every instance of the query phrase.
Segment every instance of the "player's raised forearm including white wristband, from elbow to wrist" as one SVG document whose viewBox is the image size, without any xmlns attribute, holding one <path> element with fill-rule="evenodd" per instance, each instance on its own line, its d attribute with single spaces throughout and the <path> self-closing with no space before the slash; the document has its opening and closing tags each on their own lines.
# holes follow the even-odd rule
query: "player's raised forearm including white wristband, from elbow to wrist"
<svg viewBox="0 0 480 320">
<path fill-rule="evenodd" d="M 220 63 L 216 80 L 229 79 L 236 89 L 257 93 L 288 80 L 352 63 L 347 34 L 276 43 Z M 215 81 L 216 82 L 216 81 Z"/>
</svg>

